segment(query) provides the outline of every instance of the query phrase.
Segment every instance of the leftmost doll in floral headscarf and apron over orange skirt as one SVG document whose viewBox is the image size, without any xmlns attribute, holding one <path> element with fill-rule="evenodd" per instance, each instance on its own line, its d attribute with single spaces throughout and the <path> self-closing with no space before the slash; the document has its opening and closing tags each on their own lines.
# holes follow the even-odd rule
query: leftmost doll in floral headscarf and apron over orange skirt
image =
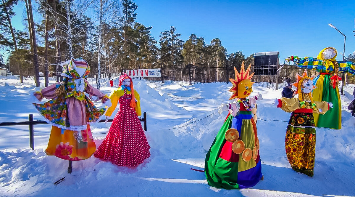
<svg viewBox="0 0 355 197">
<path fill-rule="evenodd" d="M 50 85 L 35 92 L 37 101 L 50 99 L 43 104 L 33 103 L 45 121 L 52 124 L 47 155 L 77 161 L 89 158 L 96 150 L 89 123 L 99 121 L 105 108 L 96 108 L 90 99 L 111 102 L 84 79 L 90 67 L 84 59 L 72 58 L 63 65 L 63 82 Z M 86 96 L 85 93 L 89 95 Z"/>
</svg>

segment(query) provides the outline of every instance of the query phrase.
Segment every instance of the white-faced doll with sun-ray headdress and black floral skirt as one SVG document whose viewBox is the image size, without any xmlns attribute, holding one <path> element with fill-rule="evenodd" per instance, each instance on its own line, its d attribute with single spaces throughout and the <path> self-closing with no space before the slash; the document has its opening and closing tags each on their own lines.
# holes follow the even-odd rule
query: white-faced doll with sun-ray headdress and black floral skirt
<svg viewBox="0 0 355 197">
<path fill-rule="evenodd" d="M 296 172 L 313 176 L 316 151 L 316 127 L 313 114 L 324 114 L 333 107 L 326 101 L 318 102 L 312 99 L 313 78 L 297 74 L 297 81 L 292 85 L 296 88 L 294 95 L 298 98 L 275 99 L 274 104 L 285 112 L 292 112 L 286 129 L 285 149 L 291 167 Z"/>
</svg>

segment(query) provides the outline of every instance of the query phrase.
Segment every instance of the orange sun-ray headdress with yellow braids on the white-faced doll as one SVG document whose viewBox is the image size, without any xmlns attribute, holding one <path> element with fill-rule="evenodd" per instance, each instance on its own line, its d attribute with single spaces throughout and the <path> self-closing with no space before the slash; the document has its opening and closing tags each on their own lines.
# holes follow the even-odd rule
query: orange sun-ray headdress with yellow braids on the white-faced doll
<svg viewBox="0 0 355 197">
<path fill-rule="evenodd" d="M 315 78 L 315 76 L 311 76 L 309 77 L 307 75 L 307 70 L 305 70 L 301 75 L 299 75 L 298 73 L 296 73 L 296 82 L 294 82 L 293 84 L 291 84 L 292 86 L 294 86 L 296 88 L 296 90 L 293 93 L 293 96 L 295 96 L 296 94 L 298 94 L 298 99 L 300 100 L 300 104 L 301 104 L 301 108 L 305 108 L 305 101 L 304 101 L 304 94 L 308 96 L 308 98 L 311 100 L 311 108 L 316 109 L 316 104 L 313 102 L 313 98 L 312 98 L 312 91 L 309 93 L 304 93 L 301 91 L 301 87 L 302 87 L 302 83 L 304 80 L 309 79 L 311 81 L 313 81 L 313 79 Z M 313 85 L 312 89 L 317 88 L 317 86 Z"/>
</svg>

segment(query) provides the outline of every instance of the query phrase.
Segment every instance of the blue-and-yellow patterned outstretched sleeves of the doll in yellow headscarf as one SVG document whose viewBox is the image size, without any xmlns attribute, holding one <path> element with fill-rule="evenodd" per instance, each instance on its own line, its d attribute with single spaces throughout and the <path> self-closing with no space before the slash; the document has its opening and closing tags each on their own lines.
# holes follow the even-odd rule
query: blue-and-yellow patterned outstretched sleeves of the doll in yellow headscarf
<svg viewBox="0 0 355 197">
<path fill-rule="evenodd" d="M 317 59 L 317 58 L 311 58 L 311 57 L 305 57 L 305 58 L 299 58 L 297 56 L 294 56 L 293 62 L 300 68 L 305 68 L 305 69 L 313 69 L 318 71 L 319 73 L 333 73 L 334 72 L 334 64 L 333 63 L 325 63 L 325 61 Z M 355 74 L 355 64 L 353 62 L 347 62 L 347 61 L 338 61 L 339 64 L 339 73 L 347 73 L 348 75 L 354 75 Z"/>
</svg>

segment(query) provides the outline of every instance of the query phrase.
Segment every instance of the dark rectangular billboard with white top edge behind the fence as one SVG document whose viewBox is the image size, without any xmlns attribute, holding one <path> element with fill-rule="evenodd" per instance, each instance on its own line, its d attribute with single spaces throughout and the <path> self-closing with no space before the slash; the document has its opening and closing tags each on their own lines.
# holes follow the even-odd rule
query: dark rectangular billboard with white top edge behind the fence
<svg viewBox="0 0 355 197">
<path fill-rule="evenodd" d="M 279 52 L 261 52 L 254 55 L 255 75 L 276 75 Z"/>
</svg>

